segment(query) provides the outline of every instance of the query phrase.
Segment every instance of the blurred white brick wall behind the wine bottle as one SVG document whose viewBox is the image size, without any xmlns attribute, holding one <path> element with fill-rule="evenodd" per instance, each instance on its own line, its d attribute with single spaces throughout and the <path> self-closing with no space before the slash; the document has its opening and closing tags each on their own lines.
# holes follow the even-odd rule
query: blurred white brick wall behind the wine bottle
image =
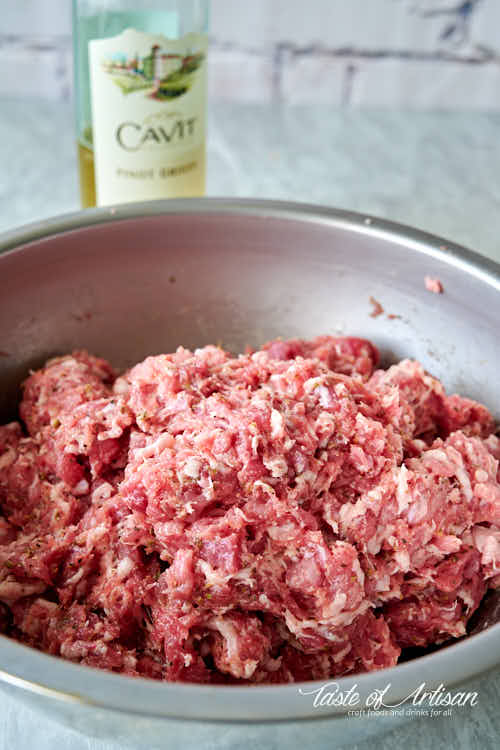
<svg viewBox="0 0 500 750">
<path fill-rule="evenodd" d="M 212 0 L 210 96 L 499 110 L 498 29 L 500 0 Z M 69 96 L 71 54 L 70 0 L 2 3 L 0 95 Z"/>
</svg>

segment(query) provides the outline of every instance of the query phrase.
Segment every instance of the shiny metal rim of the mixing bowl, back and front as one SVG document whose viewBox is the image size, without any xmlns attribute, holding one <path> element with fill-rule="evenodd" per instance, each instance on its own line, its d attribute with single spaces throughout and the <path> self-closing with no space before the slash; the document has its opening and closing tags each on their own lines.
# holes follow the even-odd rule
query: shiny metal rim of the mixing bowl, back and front
<svg viewBox="0 0 500 750">
<path fill-rule="evenodd" d="M 54 235 L 128 219 L 195 214 L 310 222 L 386 239 L 461 269 L 500 291 L 500 265 L 439 236 L 327 206 L 245 198 L 149 201 L 56 216 L 0 235 L 0 268 L 4 259 L 28 250 L 29 245 L 36 251 L 38 248 L 32 243 Z M 422 682 L 426 690 L 441 684 L 449 689 L 499 664 L 500 623 L 432 654 L 377 672 L 329 681 L 259 686 L 207 686 L 127 677 L 74 664 L 0 635 L 0 682 L 6 686 L 88 707 L 190 721 L 253 723 L 341 718 L 348 713 L 349 706 L 314 706 L 315 691 L 323 690 L 324 694 L 337 690 L 346 694 L 356 690 L 362 705 L 374 690 L 387 688 L 385 701 L 394 705 L 408 698 Z"/>
</svg>

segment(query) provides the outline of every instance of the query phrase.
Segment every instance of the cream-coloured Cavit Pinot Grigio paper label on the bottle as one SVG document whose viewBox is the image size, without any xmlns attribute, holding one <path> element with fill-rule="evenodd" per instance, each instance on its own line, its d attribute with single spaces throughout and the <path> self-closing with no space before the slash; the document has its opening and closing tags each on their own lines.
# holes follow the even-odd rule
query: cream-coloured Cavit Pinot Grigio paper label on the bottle
<svg viewBox="0 0 500 750">
<path fill-rule="evenodd" d="M 89 42 L 97 205 L 204 192 L 206 53 L 203 34 Z"/>
</svg>

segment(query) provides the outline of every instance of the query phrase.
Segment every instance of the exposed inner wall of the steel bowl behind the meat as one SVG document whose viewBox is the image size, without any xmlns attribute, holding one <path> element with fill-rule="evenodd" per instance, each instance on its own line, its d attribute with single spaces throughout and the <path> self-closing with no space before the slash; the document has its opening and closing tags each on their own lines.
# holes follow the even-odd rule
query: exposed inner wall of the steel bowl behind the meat
<svg viewBox="0 0 500 750">
<path fill-rule="evenodd" d="M 318 334 L 369 338 L 385 362 L 416 358 L 500 417 L 498 271 L 437 238 L 335 211 L 186 201 L 80 214 L 7 244 L 1 423 L 29 369 L 75 348 L 123 369 L 181 344 L 240 352 Z"/>
</svg>

